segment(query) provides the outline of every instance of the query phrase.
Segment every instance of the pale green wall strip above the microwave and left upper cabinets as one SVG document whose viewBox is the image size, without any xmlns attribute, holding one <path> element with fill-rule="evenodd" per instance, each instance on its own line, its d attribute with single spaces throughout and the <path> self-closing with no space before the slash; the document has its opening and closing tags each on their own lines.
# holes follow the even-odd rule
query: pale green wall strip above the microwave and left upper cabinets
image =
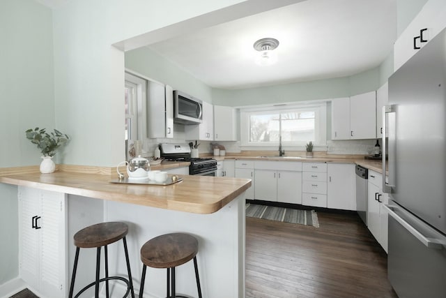
<svg viewBox="0 0 446 298">
<path fill-rule="evenodd" d="M 125 67 L 212 103 L 212 88 L 148 47 L 125 52 Z"/>
</svg>

